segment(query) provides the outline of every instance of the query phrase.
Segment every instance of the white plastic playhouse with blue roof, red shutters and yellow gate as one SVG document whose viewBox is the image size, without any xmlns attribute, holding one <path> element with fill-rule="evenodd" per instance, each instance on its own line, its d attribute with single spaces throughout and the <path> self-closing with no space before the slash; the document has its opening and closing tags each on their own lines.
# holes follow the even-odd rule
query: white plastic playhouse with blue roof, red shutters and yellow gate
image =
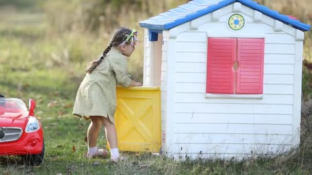
<svg viewBox="0 0 312 175">
<path fill-rule="evenodd" d="M 310 25 L 250 0 L 193 0 L 140 26 L 144 86 L 118 89 L 121 150 L 231 158 L 299 144 Z"/>
</svg>

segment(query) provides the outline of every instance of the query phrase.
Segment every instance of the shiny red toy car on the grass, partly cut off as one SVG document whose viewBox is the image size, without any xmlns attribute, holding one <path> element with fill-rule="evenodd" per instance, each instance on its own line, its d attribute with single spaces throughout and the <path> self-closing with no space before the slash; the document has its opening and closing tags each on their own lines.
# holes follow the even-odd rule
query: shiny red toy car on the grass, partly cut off
<svg viewBox="0 0 312 175">
<path fill-rule="evenodd" d="M 41 123 L 34 117 L 35 101 L 0 98 L 0 156 L 22 155 L 33 165 L 43 163 L 45 144 Z"/>
</svg>

